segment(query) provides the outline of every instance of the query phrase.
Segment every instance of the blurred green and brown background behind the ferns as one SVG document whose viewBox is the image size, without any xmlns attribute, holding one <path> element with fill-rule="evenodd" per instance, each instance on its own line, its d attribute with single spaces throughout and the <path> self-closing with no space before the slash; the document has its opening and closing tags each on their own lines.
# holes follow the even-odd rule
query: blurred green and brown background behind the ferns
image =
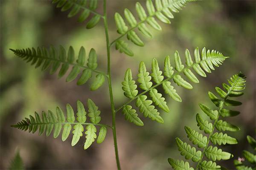
<svg viewBox="0 0 256 170">
<path fill-rule="evenodd" d="M 111 41 L 119 36 L 113 22 L 114 13 L 117 11 L 123 16 L 124 8 L 129 8 L 136 14 L 135 3 L 133 0 L 108 0 Z M 99 1 L 97 10 L 100 13 L 102 4 L 103 1 Z M 142 4 L 144 5 L 145 1 L 142 1 Z M 61 12 L 55 6 L 45 0 L 0 1 L 0 169 L 8 168 L 17 148 L 20 149 L 26 169 L 116 169 L 111 130 L 108 130 L 102 144 L 95 142 L 89 149 L 84 150 L 84 136 L 72 147 L 71 135 L 66 142 L 62 142 L 60 137 L 53 139 L 52 134 L 49 137 L 45 134 L 38 136 L 38 132 L 30 134 L 10 126 L 34 114 L 35 111 L 55 111 L 57 105 L 65 110 L 67 103 L 76 108 L 76 100 L 79 99 L 86 104 L 88 98 L 102 111 L 102 123 L 111 125 L 107 82 L 92 92 L 89 91 L 91 82 L 82 86 L 76 86 L 77 79 L 66 83 L 65 78 L 57 79 L 57 74 L 49 75 L 49 70 L 41 72 L 39 68 L 34 69 L 9 50 L 36 48 L 42 45 L 47 48 L 50 45 L 54 45 L 55 48 L 63 45 L 68 49 L 73 45 L 76 54 L 81 46 L 85 47 L 88 54 L 90 48 L 95 48 L 98 68 L 106 71 L 107 57 L 102 20 L 95 28 L 87 30 L 86 22 L 77 23 L 78 16 L 67 18 L 69 11 Z M 111 48 L 111 76 L 116 108 L 127 101 L 121 88 L 126 69 L 131 68 L 135 79 L 140 61 L 144 61 L 150 71 L 152 58 L 155 57 L 163 69 L 166 55 L 171 57 L 173 64 L 173 56 L 177 50 L 185 63 L 186 48 L 193 54 L 197 46 L 200 50 L 204 47 L 215 49 L 230 57 L 219 68 L 215 68 L 212 74 L 207 74 L 207 78 L 199 77 L 200 84 L 192 84 L 192 90 L 175 86 L 183 100 L 182 103 L 165 96 L 171 111 L 165 113 L 159 109 L 164 124 L 153 122 L 139 114 L 144 126 L 137 127 L 125 121 L 120 111 L 117 113 L 117 142 L 123 169 L 171 169 L 167 161 L 169 157 L 184 160 L 177 149 L 175 137 L 188 142 L 183 127 L 187 125 L 199 130 L 195 115 L 204 115 L 198 103 L 214 108 L 207 92 L 215 93 L 215 86 L 222 87 L 222 82 L 227 83 L 227 79 L 239 71 L 246 75 L 247 84 L 244 95 L 238 98 L 243 105 L 233 110 L 239 110 L 241 114 L 225 119 L 241 128 L 237 133 L 227 132 L 230 136 L 236 137 L 239 144 L 221 146 L 224 151 L 233 153 L 234 158 L 218 161 L 218 164 L 232 170 L 233 160 L 242 157 L 242 150 L 252 151 L 247 144 L 246 135 L 255 138 L 255 9 L 256 1 L 253 0 L 206 0 L 189 3 L 180 13 L 174 13 L 172 24 L 159 22 L 163 31 L 150 28 L 154 35 L 153 39 L 138 33 L 145 42 L 145 47 L 137 47 L 129 42 L 134 57 L 119 54 L 114 47 Z"/>
</svg>

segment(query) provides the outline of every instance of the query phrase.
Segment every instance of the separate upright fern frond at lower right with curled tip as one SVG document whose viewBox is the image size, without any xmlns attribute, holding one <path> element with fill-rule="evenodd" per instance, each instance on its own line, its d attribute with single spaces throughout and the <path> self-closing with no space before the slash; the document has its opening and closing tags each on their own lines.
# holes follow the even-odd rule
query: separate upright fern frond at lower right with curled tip
<svg viewBox="0 0 256 170">
<path fill-rule="evenodd" d="M 225 109 L 224 106 L 237 106 L 241 105 L 241 102 L 235 101 L 235 100 L 230 100 L 227 99 L 228 97 L 238 97 L 241 96 L 243 93 L 240 92 L 241 90 L 244 89 L 244 82 L 245 82 L 245 77 L 244 74 L 239 74 L 234 75 L 231 77 L 230 80 L 228 80 L 229 85 L 226 83 L 223 83 L 223 88 L 225 91 L 221 90 L 221 88 L 215 87 L 215 90 L 217 91 L 218 95 L 222 98 L 219 99 L 217 96 L 212 94 L 211 92 L 208 92 L 209 98 L 211 101 L 218 107 L 217 110 L 212 110 L 206 105 L 199 104 L 200 108 L 204 113 L 209 116 L 211 120 L 214 121 L 214 123 L 210 123 L 207 120 L 204 120 L 201 118 L 200 114 L 196 115 L 196 121 L 197 125 L 200 128 L 200 130 L 204 130 L 204 133 L 209 134 L 209 137 L 204 136 L 202 133 L 197 132 L 196 130 L 192 130 L 190 127 L 185 126 L 186 133 L 188 135 L 188 138 L 190 141 L 193 142 L 193 144 L 197 144 L 198 148 L 204 148 L 203 152 L 200 150 L 196 150 L 195 147 L 191 147 L 189 144 L 186 142 L 183 142 L 179 138 L 176 138 L 176 143 L 179 148 L 179 151 L 181 151 L 181 155 L 185 156 L 185 159 L 192 159 L 194 162 L 198 162 L 197 167 L 195 168 L 196 170 L 205 170 L 205 169 L 210 169 L 210 170 L 216 170 L 216 169 L 221 169 L 223 167 L 220 167 L 219 165 L 216 164 L 216 160 L 221 160 L 221 159 L 230 159 L 233 157 L 231 153 L 227 153 L 222 151 L 221 149 L 218 149 L 216 146 L 212 146 L 209 144 L 211 141 L 212 144 L 237 144 L 238 141 L 231 137 L 228 136 L 226 133 L 223 134 L 222 132 L 214 132 L 215 129 L 218 131 L 238 131 L 240 130 L 239 127 L 232 125 L 230 123 L 227 123 L 226 121 L 223 121 L 220 118 L 226 117 L 226 116 L 236 116 L 239 114 L 238 111 L 232 111 Z M 203 161 L 204 156 L 209 159 L 210 161 Z M 175 160 L 172 158 L 168 159 L 169 164 L 172 165 L 172 168 L 175 170 L 192 170 L 194 168 L 189 167 L 189 162 L 184 162 L 184 161 L 179 161 Z"/>
</svg>

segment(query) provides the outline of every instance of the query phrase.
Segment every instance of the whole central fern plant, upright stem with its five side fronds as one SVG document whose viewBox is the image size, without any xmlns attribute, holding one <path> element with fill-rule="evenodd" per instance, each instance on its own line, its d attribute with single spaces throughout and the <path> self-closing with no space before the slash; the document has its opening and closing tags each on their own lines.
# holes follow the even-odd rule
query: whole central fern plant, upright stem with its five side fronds
<svg viewBox="0 0 256 170">
<path fill-rule="evenodd" d="M 199 51 L 199 48 L 195 48 L 193 62 L 189 50 L 186 49 L 186 66 L 184 66 L 181 62 L 178 51 L 176 51 L 174 54 L 175 65 L 171 65 L 171 57 L 166 56 L 163 71 L 160 70 L 157 59 L 154 58 L 152 60 L 151 74 L 146 70 L 145 63 L 140 62 L 139 73 L 137 74 L 139 88 L 137 88 L 136 82 L 133 80 L 131 69 L 128 68 L 125 73 L 124 81 L 122 82 L 122 89 L 124 91 L 124 96 L 129 98 L 129 100 L 119 107 L 114 105 L 111 85 L 111 46 L 115 45 L 116 50 L 119 50 L 121 53 L 124 52 L 130 56 L 134 55 L 134 53 L 128 47 L 128 43 L 125 42 L 125 36 L 135 45 L 143 46 L 144 42 L 135 32 L 137 28 L 143 35 L 152 38 L 153 35 L 149 31 L 146 23 L 157 30 L 161 30 L 161 27 L 155 20 L 155 17 L 163 23 L 171 23 L 168 18 L 173 18 L 172 13 L 181 10 L 182 7 L 184 7 L 189 1 L 193 0 L 156 0 L 154 5 L 151 0 L 147 0 L 145 3 L 147 13 L 143 6 L 137 2 L 135 8 L 139 21 L 135 19 L 134 14 L 132 14 L 128 8 L 125 8 L 124 10 L 126 20 L 124 20 L 119 13 L 115 13 L 114 18 L 117 33 L 121 35 L 113 38 L 113 41 L 110 42 L 110 37 L 108 34 L 109 28 L 106 0 L 103 1 L 103 14 L 96 11 L 98 6 L 97 0 L 90 0 L 88 4 L 86 0 L 53 0 L 52 3 L 56 3 L 56 7 L 61 8 L 61 11 L 71 9 L 68 17 L 73 17 L 79 14 L 78 22 L 82 22 L 86 20 L 89 15 L 93 15 L 91 20 L 87 23 L 86 28 L 93 28 L 101 19 L 104 21 L 107 49 L 106 57 L 108 59 L 107 72 L 97 70 L 97 55 L 94 48 L 90 49 L 88 57 L 84 47 L 81 47 L 79 52 L 75 52 L 73 47 L 70 46 L 67 53 L 64 47 L 61 45 L 59 46 L 58 52 L 53 46 L 50 46 L 49 50 L 44 46 L 42 48 L 37 47 L 37 49 L 23 48 L 10 50 L 12 50 L 15 55 L 22 58 L 24 61 L 30 62 L 31 65 L 35 65 L 35 68 L 41 67 L 42 71 L 47 70 L 47 68 L 51 68 L 50 74 L 54 74 L 58 71 L 58 79 L 67 74 L 69 68 L 72 67 L 71 71 L 68 73 L 66 82 L 70 82 L 79 76 L 80 78 L 77 81 L 77 85 L 83 85 L 88 79 L 93 78 L 94 82 L 90 86 L 91 91 L 100 88 L 106 79 L 108 82 L 108 91 L 111 101 L 110 108 L 112 114 L 110 116 L 112 116 L 112 125 L 99 124 L 101 117 L 99 116 L 99 108 L 96 106 L 97 101 L 93 102 L 91 99 L 89 99 L 90 96 L 88 96 L 86 107 L 84 107 L 85 105 L 82 102 L 79 100 L 77 101 L 77 112 L 74 111 L 69 104 L 67 104 L 66 114 L 64 114 L 59 107 L 56 107 L 55 113 L 52 111 L 48 111 L 47 113 L 42 111 L 41 116 L 35 112 L 35 116 L 30 115 L 29 118 L 23 119 L 16 125 L 12 125 L 12 127 L 25 131 L 28 130 L 32 133 L 39 131 L 39 136 L 44 132 L 46 132 L 46 136 L 49 136 L 53 131 L 54 138 L 57 138 L 60 134 L 62 134 L 62 141 L 65 141 L 72 131 L 72 146 L 77 144 L 81 136 L 85 134 L 86 140 L 84 143 L 84 149 L 90 147 L 96 138 L 97 143 L 103 142 L 107 131 L 112 130 L 116 164 L 117 168 L 121 169 L 116 140 L 116 113 L 118 111 L 121 112 L 120 110 L 122 110 L 122 114 L 126 120 L 133 122 L 135 125 L 143 126 L 144 123 L 138 116 L 137 111 L 132 108 L 132 102 L 134 101 L 135 106 L 138 108 L 140 113 L 143 113 L 145 117 L 163 123 L 164 120 L 160 116 L 158 108 L 161 108 L 166 112 L 170 112 L 171 110 L 166 103 L 164 94 L 159 92 L 157 89 L 163 88 L 165 93 L 171 96 L 172 99 L 177 102 L 181 102 L 182 100 L 180 96 L 176 93 L 176 90 L 171 85 L 171 80 L 183 88 L 192 89 L 192 85 L 181 76 L 182 73 L 189 79 L 189 81 L 198 83 L 199 80 L 195 76 L 195 73 L 202 77 L 206 77 L 205 72 L 211 73 L 211 70 L 215 69 L 214 65 L 218 67 L 227 58 L 215 50 L 210 51 L 203 48 L 202 51 Z M 128 27 L 125 22 L 127 22 L 130 27 Z M 78 55 L 75 53 L 78 53 Z M 195 73 L 192 72 L 192 69 L 195 71 Z M 228 100 L 225 100 L 224 103 L 227 103 L 227 101 Z M 207 110 L 207 107 L 205 109 Z M 87 116 L 90 117 L 90 122 L 87 121 L 87 112 Z M 86 126 L 85 130 L 84 126 Z M 96 133 L 98 127 L 99 133 Z"/>
</svg>

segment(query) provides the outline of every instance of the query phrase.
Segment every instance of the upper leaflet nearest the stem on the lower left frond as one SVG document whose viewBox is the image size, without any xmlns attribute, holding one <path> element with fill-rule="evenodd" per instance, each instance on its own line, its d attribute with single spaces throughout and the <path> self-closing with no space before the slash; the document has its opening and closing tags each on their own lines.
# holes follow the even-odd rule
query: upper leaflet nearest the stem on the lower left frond
<svg viewBox="0 0 256 170">
<path fill-rule="evenodd" d="M 99 123 L 101 120 L 101 117 L 99 116 L 100 111 L 98 111 L 98 107 L 91 99 L 88 99 L 88 108 L 88 116 L 90 117 L 90 121 L 96 124 Z"/>
</svg>

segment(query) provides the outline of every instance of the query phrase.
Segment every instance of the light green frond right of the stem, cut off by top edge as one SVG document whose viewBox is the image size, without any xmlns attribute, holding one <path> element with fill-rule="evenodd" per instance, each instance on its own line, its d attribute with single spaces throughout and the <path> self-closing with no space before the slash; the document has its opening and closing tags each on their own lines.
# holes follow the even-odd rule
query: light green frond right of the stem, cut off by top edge
<svg viewBox="0 0 256 170">
<path fill-rule="evenodd" d="M 174 18 L 172 12 L 179 12 L 181 10 L 181 7 L 185 7 L 186 3 L 190 1 L 195 0 L 156 0 L 155 6 L 151 0 L 146 1 L 146 8 L 147 13 L 143 6 L 137 2 L 136 3 L 136 11 L 137 15 L 140 19 L 140 21 L 137 21 L 134 17 L 134 14 L 131 13 L 131 11 L 128 8 L 125 8 L 124 10 L 124 16 L 125 20 L 119 13 L 115 13 L 115 22 L 117 27 L 117 32 L 121 34 L 120 37 L 116 38 L 113 42 L 111 42 L 111 45 L 113 43 L 116 43 L 116 46 L 120 49 L 120 53 L 125 52 L 125 54 L 129 56 L 133 56 L 132 51 L 128 48 L 128 44 L 119 45 L 120 39 L 127 35 L 127 39 L 131 40 L 135 45 L 138 46 L 144 46 L 144 42 L 140 39 L 140 37 L 137 35 L 137 33 L 134 31 L 135 28 L 138 28 L 138 30 L 145 35 L 145 37 L 152 38 L 153 35 L 149 31 L 148 27 L 145 25 L 147 23 L 152 28 L 162 31 L 161 26 L 157 21 L 155 20 L 155 17 L 160 20 L 163 23 L 170 24 L 171 21 L 169 20 Z M 126 25 L 125 21 L 127 21 L 128 25 Z M 122 40 L 123 41 L 123 40 Z M 124 42 L 124 41 L 123 41 Z"/>
</svg>

